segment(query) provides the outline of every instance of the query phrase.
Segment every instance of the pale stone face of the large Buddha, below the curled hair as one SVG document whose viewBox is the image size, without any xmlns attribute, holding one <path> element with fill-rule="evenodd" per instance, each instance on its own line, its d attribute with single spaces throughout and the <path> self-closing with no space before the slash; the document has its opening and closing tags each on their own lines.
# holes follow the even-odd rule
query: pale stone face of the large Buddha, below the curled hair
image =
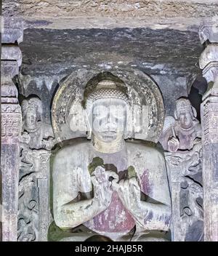
<svg viewBox="0 0 218 256">
<path fill-rule="evenodd" d="M 92 106 L 92 132 L 103 142 L 113 142 L 124 137 L 127 105 L 124 100 L 103 98 L 94 100 Z"/>
</svg>

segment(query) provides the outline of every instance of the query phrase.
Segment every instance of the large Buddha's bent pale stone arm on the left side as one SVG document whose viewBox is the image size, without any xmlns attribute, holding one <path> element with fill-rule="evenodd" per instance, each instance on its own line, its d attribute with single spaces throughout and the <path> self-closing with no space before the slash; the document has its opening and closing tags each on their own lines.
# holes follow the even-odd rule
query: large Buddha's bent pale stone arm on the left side
<svg viewBox="0 0 218 256">
<path fill-rule="evenodd" d="M 65 167 L 65 168 L 63 168 Z M 89 173 L 84 177 L 82 169 L 73 168 L 68 159 L 56 156 L 53 164 L 53 204 L 55 223 L 60 228 L 74 228 L 104 211 L 108 207 L 107 188 L 98 185 L 95 180 L 94 198 L 76 201 L 81 183 L 86 183 L 86 191 L 92 191 Z M 93 177 L 92 177 L 93 178 Z M 81 181 L 83 180 L 83 181 Z"/>
</svg>

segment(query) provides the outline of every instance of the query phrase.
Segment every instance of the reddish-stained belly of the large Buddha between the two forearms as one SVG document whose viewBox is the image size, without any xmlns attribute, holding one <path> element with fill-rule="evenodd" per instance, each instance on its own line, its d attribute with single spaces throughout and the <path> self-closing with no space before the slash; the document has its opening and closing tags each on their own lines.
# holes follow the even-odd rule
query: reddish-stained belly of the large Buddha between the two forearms
<svg viewBox="0 0 218 256">
<path fill-rule="evenodd" d="M 118 193 L 113 191 L 108 209 L 93 218 L 92 222 L 84 223 L 87 228 L 98 232 L 128 232 L 134 228 L 134 219 L 125 209 Z"/>
</svg>

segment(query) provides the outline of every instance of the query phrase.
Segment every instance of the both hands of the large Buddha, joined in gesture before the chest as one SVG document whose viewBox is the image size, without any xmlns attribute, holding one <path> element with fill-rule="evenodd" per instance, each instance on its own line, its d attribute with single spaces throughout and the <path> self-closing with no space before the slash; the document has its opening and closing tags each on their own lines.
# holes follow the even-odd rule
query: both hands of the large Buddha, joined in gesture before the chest
<svg viewBox="0 0 218 256">
<path fill-rule="evenodd" d="M 104 167 L 96 167 L 92 172 L 92 184 L 94 186 L 94 199 L 105 209 L 110 205 L 113 191 L 126 208 L 137 206 L 140 201 L 140 185 L 136 177 L 118 181 L 118 175 L 113 171 L 105 171 Z"/>
</svg>

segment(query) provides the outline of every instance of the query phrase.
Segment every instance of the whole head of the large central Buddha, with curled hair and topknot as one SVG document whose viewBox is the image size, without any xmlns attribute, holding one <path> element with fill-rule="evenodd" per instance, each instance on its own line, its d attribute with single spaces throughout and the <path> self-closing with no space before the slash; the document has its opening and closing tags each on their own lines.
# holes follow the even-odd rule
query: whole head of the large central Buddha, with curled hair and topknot
<svg viewBox="0 0 218 256">
<path fill-rule="evenodd" d="M 126 137 L 129 100 L 126 92 L 113 81 L 103 80 L 88 95 L 86 113 L 92 135 L 111 143 Z"/>
</svg>

